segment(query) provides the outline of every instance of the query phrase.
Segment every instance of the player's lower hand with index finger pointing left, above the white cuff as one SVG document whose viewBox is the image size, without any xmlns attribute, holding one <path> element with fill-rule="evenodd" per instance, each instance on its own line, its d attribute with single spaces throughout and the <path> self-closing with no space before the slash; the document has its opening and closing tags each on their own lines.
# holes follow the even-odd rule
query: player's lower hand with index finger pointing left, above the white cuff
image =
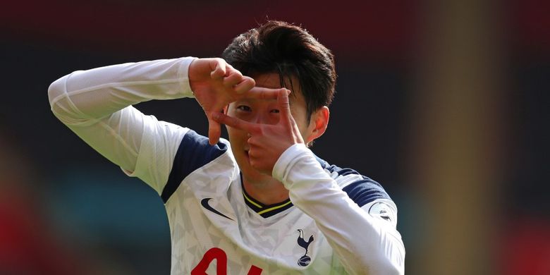
<svg viewBox="0 0 550 275">
<path fill-rule="evenodd" d="M 264 98 L 274 99 L 279 104 L 279 122 L 276 124 L 258 124 L 243 121 L 238 118 L 216 113 L 214 121 L 226 126 L 244 130 L 250 134 L 247 142 L 250 145 L 248 157 L 250 166 L 269 176 L 273 173 L 273 167 L 281 154 L 297 143 L 304 143 L 300 130 L 291 114 L 288 94 L 291 91 L 279 89 L 276 93 L 264 94 Z"/>
</svg>

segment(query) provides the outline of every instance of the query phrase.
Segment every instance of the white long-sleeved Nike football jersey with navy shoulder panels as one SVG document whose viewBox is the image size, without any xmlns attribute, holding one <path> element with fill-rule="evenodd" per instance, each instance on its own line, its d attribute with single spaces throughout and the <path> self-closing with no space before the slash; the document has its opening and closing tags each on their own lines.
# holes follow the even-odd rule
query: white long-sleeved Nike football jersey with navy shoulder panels
<svg viewBox="0 0 550 275">
<path fill-rule="evenodd" d="M 161 196 L 171 274 L 403 274 L 396 206 L 378 183 L 293 145 L 272 175 L 290 200 L 266 206 L 243 190 L 227 140 L 210 146 L 193 130 L 131 106 L 193 97 L 191 61 L 78 71 L 49 89 L 63 123 Z"/>
</svg>

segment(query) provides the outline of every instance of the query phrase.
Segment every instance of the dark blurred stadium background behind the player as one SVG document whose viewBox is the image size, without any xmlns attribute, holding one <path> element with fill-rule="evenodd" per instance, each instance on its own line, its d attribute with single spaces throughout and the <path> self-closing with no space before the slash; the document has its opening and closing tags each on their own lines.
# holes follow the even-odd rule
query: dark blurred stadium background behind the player
<svg viewBox="0 0 550 275">
<path fill-rule="evenodd" d="M 461 47 L 428 38 L 439 38 L 429 24 L 446 30 L 444 18 L 434 16 L 436 1 L 22 0 L 0 10 L 0 274 L 169 274 L 169 228 L 161 200 L 56 121 L 47 87 L 71 71 L 113 63 L 219 56 L 233 37 L 267 18 L 301 24 L 334 51 L 337 94 L 329 130 L 314 152 L 374 178 L 396 200 L 408 274 L 460 274 L 461 266 L 468 265 L 474 267 L 472 274 L 550 274 L 550 5 L 539 0 L 481 2 L 482 8 L 475 9 L 480 5 L 473 0 L 449 1 L 465 8 L 458 15 L 475 9 L 473 19 L 451 21 L 458 23 L 456 33 L 462 33 L 461 22 L 487 16 L 495 25 L 479 27 L 497 37 L 489 46 L 476 46 L 494 54 L 496 66 L 476 66 L 465 58 L 472 68 L 498 74 L 489 83 L 494 100 L 467 98 L 483 104 L 479 109 L 492 110 L 488 114 L 496 117 L 491 121 L 499 121 L 498 132 L 487 129 L 492 140 L 474 142 L 494 145 L 494 151 L 482 148 L 494 161 L 487 164 L 493 172 L 484 185 L 491 189 L 464 198 L 489 208 L 478 209 L 491 214 L 487 224 L 472 227 L 490 234 L 490 240 L 479 243 L 479 251 L 488 251 L 487 266 L 472 265 L 466 256 L 444 258 L 453 251 L 438 256 L 427 248 L 434 236 L 444 236 L 470 243 L 464 251 L 475 255 L 463 220 L 453 223 L 452 217 L 434 214 L 446 207 L 435 203 L 436 195 L 452 187 L 443 182 L 443 190 L 434 191 L 419 176 L 433 171 L 418 164 L 440 168 L 437 159 L 424 159 L 435 147 L 419 145 L 424 133 L 444 130 L 430 129 L 418 115 L 419 109 L 434 106 L 422 102 L 437 92 L 422 91 L 435 87 L 423 82 L 423 66 L 429 64 L 424 59 L 431 56 L 426 49 Z M 452 18 L 452 11 L 446 15 Z M 138 108 L 206 133 L 206 120 L 192 100 L 146 102 Z M 482 125 L 476 118 L 465 123 Z M 456 138 L 468 137 L 472 135 Z M 452 140 L 427 145 L 436 142 L 453 145 Z M 353 147 L 353 156 L 342 154 L 342 147 Z M 470 179 L 464 174 L 455 180 Z M 475 209 L 468 211 L 475 214 Z M 445 228 L 453 230 L 434 232 L 438 222 L 448 220 Z M 444 247 L 432 245 L 434 250 Z M 431 261 L 446 265 L 448 272 L 441 273 Z"/>
</svg>

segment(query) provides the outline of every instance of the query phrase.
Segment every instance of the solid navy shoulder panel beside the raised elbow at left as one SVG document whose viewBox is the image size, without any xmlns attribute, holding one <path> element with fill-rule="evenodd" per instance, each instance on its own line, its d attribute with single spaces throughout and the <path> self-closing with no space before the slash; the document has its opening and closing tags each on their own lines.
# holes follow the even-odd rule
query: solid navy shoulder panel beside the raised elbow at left
<svg viewBox="0 0 550 275">
<path fill-rule="evenodd" d="M 176 157 L 173 159 L 172 170 L 162 190 L 162 201 L 164 203 L 168 201 L 186 176 L 226 151 L 227 145 L 224 143 L 218 142 L 211 146 L 207 137 L 197 134 L 194 130 L 189 130 L 183 136 Z"/>
</svg>

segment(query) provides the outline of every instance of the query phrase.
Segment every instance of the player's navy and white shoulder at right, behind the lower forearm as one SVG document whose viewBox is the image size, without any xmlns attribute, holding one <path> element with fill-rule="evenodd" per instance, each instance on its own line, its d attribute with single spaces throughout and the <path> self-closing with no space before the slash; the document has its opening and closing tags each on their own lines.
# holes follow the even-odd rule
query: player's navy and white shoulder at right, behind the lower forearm
<svg viewBox="0 0 550 275">
<path fill-rule="evenodd" d="M 317 157 L 317 161 L 359 207 L 363 207 L 375 200 L 391 200 L 391 197 L 386 193 L 382 185 L 371 178 L 363 176 L 350 168 L 331 165 L 319 157 Z"/>
</svg>

